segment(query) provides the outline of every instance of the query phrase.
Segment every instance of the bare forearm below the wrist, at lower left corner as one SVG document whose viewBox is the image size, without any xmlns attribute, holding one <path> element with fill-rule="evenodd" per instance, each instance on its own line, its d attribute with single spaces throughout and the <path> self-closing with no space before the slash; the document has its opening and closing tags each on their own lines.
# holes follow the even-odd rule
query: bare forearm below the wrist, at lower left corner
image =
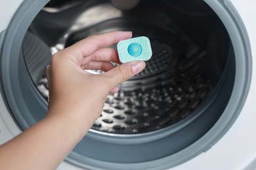
<svg viewBox="0 0 256 170">
<path fill-rule="evenodd" d="M 80 127 L 65 119 L 47 117 L 0 146 L 0 169 L 56 169 L 82 139 Z"/>
</svg>

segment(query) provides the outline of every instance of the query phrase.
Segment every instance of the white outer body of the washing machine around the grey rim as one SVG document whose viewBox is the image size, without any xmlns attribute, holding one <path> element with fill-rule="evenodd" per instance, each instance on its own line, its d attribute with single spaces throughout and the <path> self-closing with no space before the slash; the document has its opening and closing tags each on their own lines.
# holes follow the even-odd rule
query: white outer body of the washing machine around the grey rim
<svg viewBox="0 0 256 170">
<path fill-rule="evenodd" d="M 210 6 L 215 3 L 214 1 L 206 1 Z M 0 1 L 0 51 L 3 47 L 5 33 L 9 29 L 9 24 L 12 17 L 15 15 L 16 10 L 24 3 L 22 0 Z M 191 158 L 184 163 L 172 167 L 172 169 L 256 169 L 256 1 L 254 0 L 225 0 L 227 9 L 231 10 L 233 16 L 237 17 L 242 27 L 242 31 L 246 34 L 245 39 L 249 40 L 247 48 L 250 49 L 251 60 L 251 79 L 249 80 L 249 88 L 247 94 L 245 94 L 244 105 L 241 107 L 238 118 L 234 121 L 234 124 L 228 131 L 224 131 L 224 135 L 219 137 L 220 139 L 212 144 L 207 144 L 208 147 L 203 150 L 201 154 Z M 215 9 L 218 14 L 218 11 Z M 230 11 L 229 11 L 230 12 Z M 228 23 L 228 18 L 221 18 L 224 25 Z M 232 29 L 234 26 L 234 29 Z M 232 34 L 232 31 L 236 31 L 235 25 L 226 25 L 228 32 Z M 249 38 L 249 39 L 248 39 Z M 232 39 L 232 37 L 231 37 Z M 233 42 L 236 43 L 236 42 Z M 239 44 L 238 44 L 239 46 Z M 238 50 L 238 49 L 236 49 Z M 242 49 L 241 49 L 242 50 Z M 239 75 L 239 70 L 238 73 Z M 236 97 L 237 93 L 232 93 L 233 97 Z M 234 105 L 232 101 L 228 105 Z M 222 122 L 218 121 L 212 128 L 219 128 L 222 126 Z M 14 118 L 10 114 L 10 110 L 7 107 L 7 103 L 3 99 L 3 95 L 0 95 L 0 144 L 9 141 L 14 136 L 21 133 L 20 128 L 16 124 Z M 205 134 L 210 135 L 210 134 Z M 212 135 L 212 133 L 211 133 Z M 156 146 L 157 147 L 157 146 Z M 189 146 L 190 147 L 190 146 Z M 161 165 L 161 169 L 169 169 L 166 160 L 156 160 Z M 150 163 L 154 164 L 154 161 Z M 136 165 L 135 165 L 136 166 Z M 141 165 L 140 165 L 141 166 Z M 111 165 L 106 165 L 106 168 Z M 88 167 L 90 169 L 90 167 Z M 59 169 L 83 169 L 64 161 Z"/>
</svg>

